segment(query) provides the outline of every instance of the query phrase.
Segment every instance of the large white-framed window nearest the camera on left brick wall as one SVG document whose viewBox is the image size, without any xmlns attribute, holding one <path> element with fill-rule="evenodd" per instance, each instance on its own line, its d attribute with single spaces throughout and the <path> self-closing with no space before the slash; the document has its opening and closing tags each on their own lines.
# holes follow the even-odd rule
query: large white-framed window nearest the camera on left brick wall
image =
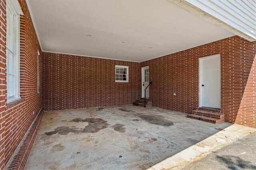
<svg viewBox="0 0 256 170">
<path fill-rule="evenodd" d="M 19 14 L 6 3 L 7 102 L 20 99 Z"/>
</svg>

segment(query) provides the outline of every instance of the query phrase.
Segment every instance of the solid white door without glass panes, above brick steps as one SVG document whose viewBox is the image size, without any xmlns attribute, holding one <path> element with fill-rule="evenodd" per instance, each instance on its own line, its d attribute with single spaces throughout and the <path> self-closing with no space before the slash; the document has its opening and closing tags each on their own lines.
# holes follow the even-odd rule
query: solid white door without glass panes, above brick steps
<svg viewBox="0 0 256 170">
<path fill-rule="evenodd" d="M 199 59 L 200 107 L 220 109 L 220 54 Z"/>
</svg>

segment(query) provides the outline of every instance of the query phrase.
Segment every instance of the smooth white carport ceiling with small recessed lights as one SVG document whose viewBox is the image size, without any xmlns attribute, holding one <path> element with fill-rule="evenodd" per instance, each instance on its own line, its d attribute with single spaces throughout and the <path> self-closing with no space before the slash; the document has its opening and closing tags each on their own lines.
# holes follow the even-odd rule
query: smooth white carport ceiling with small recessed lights
<svg viewBox="0 0 256 170">
<path fill-rule="evenodd" d="M 234 35 L 166 0 L 28 4 L 43 51 L 145 61 Z"/>
</svg>

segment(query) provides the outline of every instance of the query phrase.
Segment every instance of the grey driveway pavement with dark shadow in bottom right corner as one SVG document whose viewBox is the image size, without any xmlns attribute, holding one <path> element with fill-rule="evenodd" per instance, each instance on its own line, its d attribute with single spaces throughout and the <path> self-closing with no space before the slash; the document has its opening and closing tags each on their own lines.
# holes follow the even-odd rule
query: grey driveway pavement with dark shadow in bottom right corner
<svg viewBox="0 0 256 170">
<path fill-rule="evenodd" d="M 256 132 L 224 146 L 182 170 L 256 170 Z"/>
</svg>

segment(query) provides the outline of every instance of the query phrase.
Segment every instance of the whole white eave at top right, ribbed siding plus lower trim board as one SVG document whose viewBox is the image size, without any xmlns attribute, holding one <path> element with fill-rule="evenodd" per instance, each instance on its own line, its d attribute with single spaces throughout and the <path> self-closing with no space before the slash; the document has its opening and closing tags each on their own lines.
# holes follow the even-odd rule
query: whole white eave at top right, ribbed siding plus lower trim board
<svg viewBox="0 0 256 170">
<path fill-rule="evenodd" d="M 204 17 L 206 20 L 225 28 L 246 40 L 251 42 L 256 41 L 255 0 L 169 1 L 189 12 Z"/>
</svg>

